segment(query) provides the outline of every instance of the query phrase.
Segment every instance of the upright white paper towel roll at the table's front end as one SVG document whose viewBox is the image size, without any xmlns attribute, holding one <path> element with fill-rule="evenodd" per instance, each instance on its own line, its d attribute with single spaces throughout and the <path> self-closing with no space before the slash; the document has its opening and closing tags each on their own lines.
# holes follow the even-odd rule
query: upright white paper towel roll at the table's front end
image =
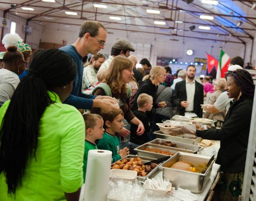
<svg viewBox="0 0 256 201">
<path fill-rule="evenodd" d="M 112 151 L 92 149 L 88 152 L 85 176 L 85 201 L 106 201 Z"/>
</svg>

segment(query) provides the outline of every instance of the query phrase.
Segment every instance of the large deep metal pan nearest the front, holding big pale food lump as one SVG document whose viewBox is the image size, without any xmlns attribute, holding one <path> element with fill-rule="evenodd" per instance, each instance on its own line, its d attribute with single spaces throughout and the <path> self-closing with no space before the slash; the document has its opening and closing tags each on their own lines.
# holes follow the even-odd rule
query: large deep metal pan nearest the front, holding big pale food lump
<svg viewBox="0 0 256 201">
<path fill-rule="evenodd" d="M 201 172 L 210 158 L 211 157 L 209 156 L 177 152 L 170 159 L 164 162 L 160 168 L 163 169 L 163 177 L 170 179 L 170 182 L 175 189 L 180 187 L 182 189 L 188 189 L 192 193 L 200 193 L 203 189 L 203 185 L 206 184 L 211 175 L 214 160 L 204 174 L 173 169 L 170 167 L 175 162 L 181 160 L 192 164 L 196 170 Z"/>
</svg>

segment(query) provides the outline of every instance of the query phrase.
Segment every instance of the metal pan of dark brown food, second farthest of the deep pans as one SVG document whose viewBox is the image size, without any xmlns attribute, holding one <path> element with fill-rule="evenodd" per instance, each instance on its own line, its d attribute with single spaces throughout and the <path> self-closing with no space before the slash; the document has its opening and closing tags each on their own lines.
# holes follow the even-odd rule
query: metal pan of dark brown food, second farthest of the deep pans
<svg viewBox="0 0 256 201">
<path fill-rule="evenodd" d="M 202 149 L 202 147 L 200 147 L 198 145 L 187 144 L 187 143 L 182 143 L 182 142 L 178 142 L 178 141 L 174 141 L 174 140 L 161 139 L 161 138 L 154 139 L 152 141 L 149 141 L 148 143 L 158 144 L 158 143 L 168 142 L 168 141 L 171 141 L 172 144 L 176 144 L 178 146 L 178 148 L 176 148 L 176 147 L 172 147 L 172 148 L 176 148 L 178 151 L 194 153 L 194 152 Z M 163 144 L 158 144 L 158 145 L 165 146 Z M 167 147 L 171 147 L 171 146 L 167 146 Z"/>
</svg>

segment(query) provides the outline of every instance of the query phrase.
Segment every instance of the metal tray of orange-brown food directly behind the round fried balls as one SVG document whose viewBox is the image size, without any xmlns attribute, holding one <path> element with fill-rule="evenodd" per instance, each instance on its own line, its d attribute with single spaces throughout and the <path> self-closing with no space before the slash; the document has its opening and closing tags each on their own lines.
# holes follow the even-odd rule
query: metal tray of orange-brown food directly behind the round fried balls
<svg viewBox="0 0 256 201">
<path fill-rule="evenodd" d="M 144 157 L 153 157 L 153 158 L 159 159 L 159 158 L 163 158 L 163 157 L 167 156 L 167 154 L 144 151 L 145 148 L 169 151 L 172 154 L 175 154 L 176 152 L 178 152 L 178 150 L 176 150 L 176 148 L 173 148 L 173 147 L 168 147 L 168 146 L 163 146 L 163 145 L 158 145 L 158 144 L 149 144 L 149 143 L 142 144 L 142 145 L 138 146 L 137 148 L 135 148 L 134 150 L 137 151 L 139 156 L 144 156 Z"/>
</svg>

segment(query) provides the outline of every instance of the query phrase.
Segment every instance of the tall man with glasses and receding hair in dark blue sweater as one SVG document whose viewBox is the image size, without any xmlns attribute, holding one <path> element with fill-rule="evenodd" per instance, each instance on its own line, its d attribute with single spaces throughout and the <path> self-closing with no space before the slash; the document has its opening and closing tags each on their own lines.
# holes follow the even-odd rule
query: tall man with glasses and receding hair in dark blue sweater
<svg viewBox="0 0 256 201">
<path fill-rule="evenodd" d="M 64 102 L 73 105 L 78 109 L 91 109 L 99 107 L 105 110 L 117 110 L 116 102 L 108 96 L 93 96 L 82 93 L 83 62 L 86 55 L 96 55 L 98 51 L 104 49 L 107 37 L 106 28 L 98 21 L 85 21 L 79 30 L 79 38 L 73 45 L 60 48 L 68 53 L 77 65 L 77 74 L 73 84 L 73 90 Z"/>
</svg>

